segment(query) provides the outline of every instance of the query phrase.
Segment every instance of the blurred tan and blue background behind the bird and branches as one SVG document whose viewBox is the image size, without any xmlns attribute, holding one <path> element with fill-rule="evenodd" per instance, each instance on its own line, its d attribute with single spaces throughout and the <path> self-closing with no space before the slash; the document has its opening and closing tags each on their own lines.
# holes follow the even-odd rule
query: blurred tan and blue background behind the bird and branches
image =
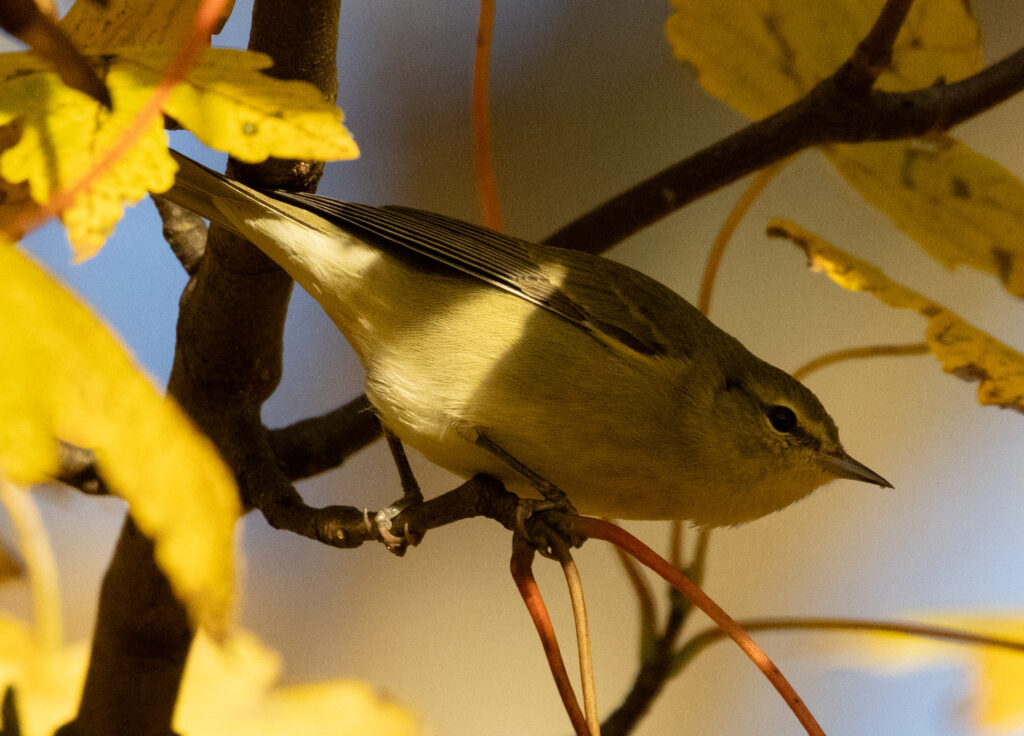
<svg viewBox="0 0 1024 736">
<path fill-rule="evenodd" d="M 986 60 L 1024 43 L 1019 0 L 980 0 Z M 239 2 L 217 45 L 244 47 Z M 478 220 L 472 179 L 470 90 L 478 5 L 464 0 L 346 0 L 339 104 L 362 151 L 328 167 L 321 191 Z M 499 3 L 492 62 L 496 170 L 506 229 L 539 240 L 640 179 L 739 128 L 672 56 L 665 2 Z M 954 132 L 1024 176 L 1024 97 Z M 214 166 L 188 136 L 172 141 Z M 695 300 L 715 232 L 744 183 L 709 197 L 631 239 L 611 257 Z M 845 186 L 824 159 L 801 156 L 769 186 L 726 254 L 712 318 L 786 370 L 843 347 L 920 341 L 924 320 L 850 294 L 807 271 L 793 246 L 769 241 L 785 216 L 881 266 L 890 276 L 1024 348 L 1024 311 L 997 282 L 947 271 Z M 133 208 L 93 260 L 71 265 L 54 227 L 30 250 L 89 302 L 163 384 L 185 278 L 148 201 Z M 1024 418 L 982 408 L 975 385 L 931 356 L 848 362 L 808 379 L 854 457 L 895 490 L 837 482 L 782 513 L 712 537 L 706 589 L 737 618 L 1024 609 Z M 318 306 L 292 300 L 285 377 L 264 418 L 281 426 L 361 390 L 358 363 Z M 435 494 L 457 479 L 414 459 Z M 313 505 L 377 508 L 397 497 L 378 443 L 340 471 L 303 483 Z M 123 516 L 116 500 L 41 495 L 61 564 L 69 639 L 88 637 L 98 585 Z M 665 548 L 668 526 L 630 528 Z M 508 573 L 509 534 L 488 521 L 432 531 L 406 558 L 380 546 L 339 551 L 245 520 L 242 621 L 280 650 L 288 683 L 355 677 L 422 717 L 436 733 L 569 731 L 541 646 Z M 602 712 L 636 669 L 636 606 L 612 553 L 578 554 L 593 625 Z M 560 572 L 538 575 L 571 655 Z M 25 592 L 0 604 L 25 609 Z M 693 616 L 695 627 L 706 621 Z M 843 637 L 842 639 L 840 637 Z M 951 663 L 884 677 L 837 653 L 848 635 L 759 638 L 831 736 L 965 736 L 971 673 Z M 570 663 L 569 669 L 573 670 Z M 1024 695 L 1022 695 L 1024 697 Z M 798 734 L 771 687 L 731 645 L 719 644 L 673 681 L 640 734 Z"/>
</svg>

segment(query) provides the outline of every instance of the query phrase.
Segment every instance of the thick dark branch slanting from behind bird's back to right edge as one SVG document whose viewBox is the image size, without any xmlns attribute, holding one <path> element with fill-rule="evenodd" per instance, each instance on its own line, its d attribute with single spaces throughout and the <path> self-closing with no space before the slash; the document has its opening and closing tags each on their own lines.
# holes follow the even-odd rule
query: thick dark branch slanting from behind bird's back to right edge
<svg viewBox="0 0 1024 736">
<path fill-rule="evenodd" d="M 793 104 L 599 205 L 545 243 L 603 253 L 690 202 L 804 148 L 946 130 L 1024 89 L 1024 49 L 954 84 L 912 92 L 858 91 L 845 79 L 846 69 Z"/>
</svg>

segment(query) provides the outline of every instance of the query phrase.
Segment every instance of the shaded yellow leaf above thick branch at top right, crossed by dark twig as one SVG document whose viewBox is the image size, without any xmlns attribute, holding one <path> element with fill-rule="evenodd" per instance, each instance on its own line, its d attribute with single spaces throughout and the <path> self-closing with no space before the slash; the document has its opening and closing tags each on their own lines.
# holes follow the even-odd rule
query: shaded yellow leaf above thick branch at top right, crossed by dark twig
<svg viewBox="0 0 1024 736">
<path fill-rule="evenodd" d="M 797 101 L 849 58 L 884 0 L 674 0 L 667 33 L 711 94 L 753 119 Z M 963 0 L 918 0 L 880 89 L 928 87 L 981 68 L 978 28 Z"/>
</svg>

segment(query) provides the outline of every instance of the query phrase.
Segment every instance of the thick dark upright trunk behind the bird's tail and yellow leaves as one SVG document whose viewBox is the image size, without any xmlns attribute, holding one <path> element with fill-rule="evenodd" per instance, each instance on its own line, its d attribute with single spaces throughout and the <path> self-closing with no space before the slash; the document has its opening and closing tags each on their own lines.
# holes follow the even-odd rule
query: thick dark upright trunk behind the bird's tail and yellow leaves
<svg viewBox="0 0 1024 736">
<path fill-rule="evenodd" d="M 258 0 L 250 48 L 282 77 L 334 98 L 340 0 Z M 322 167 L 274 162 L 236 172 L 256 185 L 312 188 Z M 281 377 L 291 279 L 260 251 L 213 228 L 185 287 L 169 393 L 220 449 L 243 494 L 269 484 L 298 496 L 278 467 L 259 410 Z M 261 475 L 256 475 L 261 474 Z M 67 736 L 168 736 L 194 632 L 153 558 L 125 521 L 100 593 L 85 689 Z"/>
</svg>

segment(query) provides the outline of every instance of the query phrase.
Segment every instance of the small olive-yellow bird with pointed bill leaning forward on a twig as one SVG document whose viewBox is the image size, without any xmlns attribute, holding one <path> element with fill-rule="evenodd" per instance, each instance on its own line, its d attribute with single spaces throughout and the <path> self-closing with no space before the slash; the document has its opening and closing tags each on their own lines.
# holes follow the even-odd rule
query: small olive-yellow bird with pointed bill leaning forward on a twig
<svg viewBox="0 0 1024 736">
<path fill-rule="evenodd" d="M 357 354 L 385 430 L 583 514 L 732 526 L 854 460 L 818 398 L 659 282 L 444 215 L 255 189 L 172 150 L 163 197 L 250 241 Z"/>
</svg>

